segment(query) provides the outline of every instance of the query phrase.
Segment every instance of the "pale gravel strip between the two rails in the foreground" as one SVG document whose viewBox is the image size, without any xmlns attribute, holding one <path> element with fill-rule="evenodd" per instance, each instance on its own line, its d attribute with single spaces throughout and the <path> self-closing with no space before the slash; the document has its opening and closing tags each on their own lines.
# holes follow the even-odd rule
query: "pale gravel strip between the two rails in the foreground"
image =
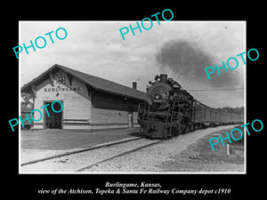
<svg viewBox="0 0 267 200">
<path fill-rule="evenodd" d="M 104 144 L 93 148 L 86 148 L 61 154 L 49 156 L 36 161 L 20 164 L 21 172 L 83 172 L 96 166 L 132 152 L 148 148 L 158 144 L 161 140 L 148 140 L 134 138 Z"/>
</svg>

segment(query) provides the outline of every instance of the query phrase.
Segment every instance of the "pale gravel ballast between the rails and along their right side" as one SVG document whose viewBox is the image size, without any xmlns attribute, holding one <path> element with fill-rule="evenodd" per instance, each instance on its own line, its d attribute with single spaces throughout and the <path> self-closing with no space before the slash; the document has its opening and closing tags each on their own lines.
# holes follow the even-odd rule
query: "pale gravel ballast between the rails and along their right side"
<svg viewBox="0 0 267 200">
<path fill-rule="evenodd" d="M 90 172 L 166 172 L 162 168 L 164 162 L 174 161 L 174 157 L 187 149 L 191 144 L 204 138 L 211 132 L 223 129 L 231 129 L 235 125 L 218 126 L 204 130 L 197 130 L 180 135 L 170 140 L 162 140 L 158 144 L 147 148 L 142 148 L 125 156 L 119 156 L 107 162 L 97 164 L 92 168 L 86 169 L 83 173 Z M 150 144 L 155 140 L 134 140 L 110 146 L 106 148 L 94 149 L 91 151 L 55 158 L 36 164 L 22 166 L 20 172 L 75 172 L 77 169 L 89 164 L 97 163 L 102 159 L 121 154 L 126 150 Z M 218 167 L 218 166 L 216 166 Z M 220 168 L 220 167 L 219 167 Z M 217 169 L 220 171 L 220 169 Z M 172 171 L 173 172 L 173 171 Z"/>
</svg>

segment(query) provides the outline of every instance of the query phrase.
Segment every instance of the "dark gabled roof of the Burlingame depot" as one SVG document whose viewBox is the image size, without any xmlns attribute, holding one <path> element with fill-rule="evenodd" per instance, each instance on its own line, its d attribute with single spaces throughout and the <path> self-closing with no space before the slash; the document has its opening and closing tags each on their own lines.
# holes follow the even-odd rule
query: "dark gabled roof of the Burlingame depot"
<svg viewBox="0 0 267 200">
<path fill-rule="evenodd" d="M 125 97 L 134 98 L 138 100 L 146 100 L 146 93 L 137 91 L 131 87 L 127 87 L 122 84 L 117 84 L 115 82 L 106 80 L 101 77 L 92 76 L 85 74 L 83 72 L 74 70 L 72 68 L 67 68 L 58 64 L 53 65 L 53 67 L 48 68 L 44 73 L 42 73 L 40 76 L 37 76 L 35 79 L 30 81 L 28 84 L 24 84 L 21 87 L 21 92 L 30 92 L 30 86 L 33 84 L 38 84 L 44 81 L 46 78 L 49 77 L 50 73 L 55 73 L 58 70 L 65 71 L 66 73 L 70 74 L 71 76 L 76 77 L 80 81 L 82 81 L 85 84 L 88 84 L 89 86 L 93 87 L 93 89 L 97 91 L 102 92 L 109 92 L 117 95 L 123 95 Z"/>
</svg>

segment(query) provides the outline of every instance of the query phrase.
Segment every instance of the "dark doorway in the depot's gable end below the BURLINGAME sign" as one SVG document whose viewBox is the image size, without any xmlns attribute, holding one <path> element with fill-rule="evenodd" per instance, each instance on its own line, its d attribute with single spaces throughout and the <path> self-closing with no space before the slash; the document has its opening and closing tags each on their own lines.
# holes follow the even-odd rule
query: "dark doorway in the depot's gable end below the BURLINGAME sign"
<svg viewBox="0 0 267 200">
<path fill-rule="evenodd" d="M 44 111 L 44 129 L 61 129 L 62 128 L 62 112 L 55 113 L 53 112 L 53 109 L 51 107 L 53 101 L 44 101 L 44 105 L 49 103 L 49 106 L 47 108 L 47 112 L 50 116 L 47 115 L 47 113 Z M 59 102 L 54 102 L 53 108 L 55 110 L 61 110 L 61 104 Z"/>
</svg>

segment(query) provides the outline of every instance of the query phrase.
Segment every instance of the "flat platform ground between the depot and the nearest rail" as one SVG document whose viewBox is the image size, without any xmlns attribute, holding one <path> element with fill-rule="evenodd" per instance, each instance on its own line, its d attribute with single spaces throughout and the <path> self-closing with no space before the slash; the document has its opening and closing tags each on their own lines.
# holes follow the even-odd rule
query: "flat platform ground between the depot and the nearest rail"
<svg viewBox="0 0 267 200">
<path fill-rule="evenodd" d="M 138 128 L 88 132 L 87 130 L 24 130 L 20 133 L 21 164 L 106 142 L 139 136 Z"/>
</svg>

